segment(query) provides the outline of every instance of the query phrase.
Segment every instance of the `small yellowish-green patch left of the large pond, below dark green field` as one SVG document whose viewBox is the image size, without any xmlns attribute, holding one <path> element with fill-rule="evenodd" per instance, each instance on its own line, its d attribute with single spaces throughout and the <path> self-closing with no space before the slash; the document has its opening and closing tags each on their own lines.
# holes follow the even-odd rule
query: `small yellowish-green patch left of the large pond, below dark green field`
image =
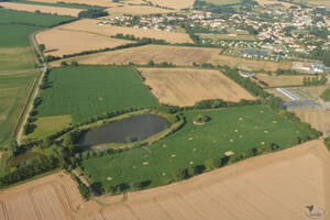
<svg viewBox="0 0 330 220">
<path fill-rule="evenodd" d="M 44 139 L 48 135 L 52 135 L 64 128 L 67 128 L 72 122 L 72 116 L 56 116 L 56 117 L 41 117 L 37 118 L 34 124 L 36 129 L 31 133 L 29 139 Z"/>
</svg>

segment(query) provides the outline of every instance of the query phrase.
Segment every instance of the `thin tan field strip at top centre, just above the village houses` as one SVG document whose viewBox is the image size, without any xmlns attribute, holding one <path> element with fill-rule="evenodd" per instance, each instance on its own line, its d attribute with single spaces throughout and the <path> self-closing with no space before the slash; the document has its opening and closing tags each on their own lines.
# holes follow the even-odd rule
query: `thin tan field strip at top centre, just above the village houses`
<svg viewBox="0 0 330 220">
<path fill-rule="evenodd" d="M 113 14 L 133 14 L 133 15 L 141 15 L 141 14 L 155 14 L 155 13 L 170 13 L 174 12 L 173 10 L 168 9 L 161 9 L 156 7 L 148 7 L 148 6 L 122 6 L 122 7 L 113 7 L 106 9 L 111 15 Z"/>
</svg>

